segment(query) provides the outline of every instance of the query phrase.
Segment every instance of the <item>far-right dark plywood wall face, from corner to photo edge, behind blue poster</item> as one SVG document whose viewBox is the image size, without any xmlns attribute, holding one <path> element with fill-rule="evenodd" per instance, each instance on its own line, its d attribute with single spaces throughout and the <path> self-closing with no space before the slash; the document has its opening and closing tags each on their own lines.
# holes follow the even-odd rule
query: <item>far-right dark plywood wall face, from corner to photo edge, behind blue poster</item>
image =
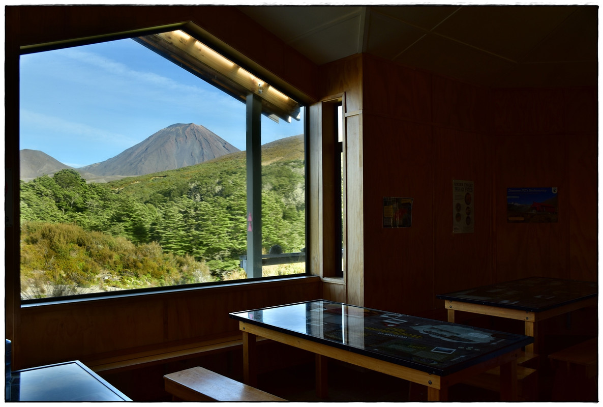
<svg viewBox="0 0 603 407">
<path fill-rule="evenodd" d="M 596 281 L 596 89 L 495 90 L 496 279 Z M 505 191 L 557 187 L 558 222 L 508 223 Z"/>
</svg>

